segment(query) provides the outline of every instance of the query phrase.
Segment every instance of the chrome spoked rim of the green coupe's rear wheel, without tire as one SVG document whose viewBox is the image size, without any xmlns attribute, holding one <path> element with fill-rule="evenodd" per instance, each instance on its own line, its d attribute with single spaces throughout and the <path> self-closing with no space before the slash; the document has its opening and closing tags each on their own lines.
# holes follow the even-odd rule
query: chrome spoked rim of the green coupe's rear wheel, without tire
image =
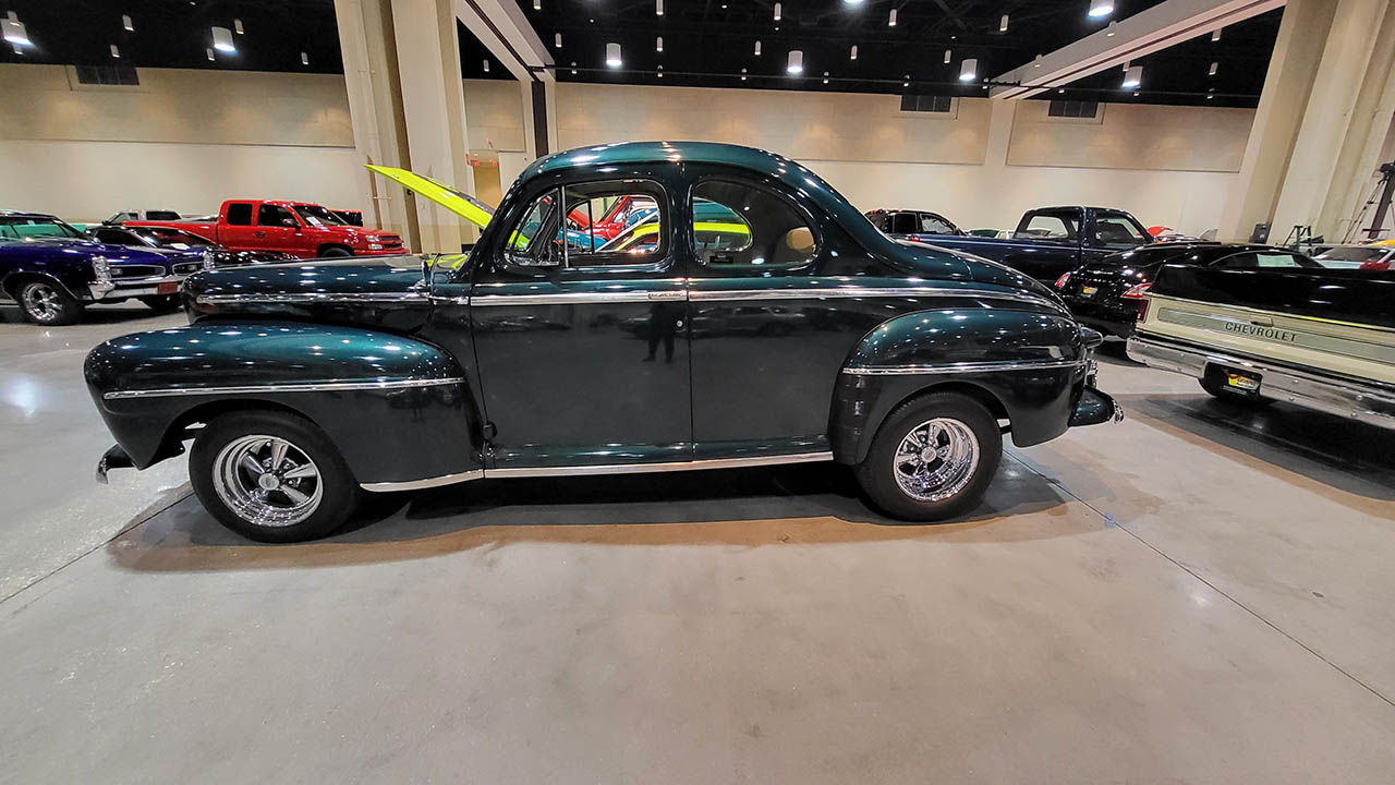
<svg viewBox="0 0 1395 785">
<path fill-rule="evenodd" d="M 940 501 L 964 490 L 978 468 L 978 439 L 968 425 L 935 418 L 912 427 L 891 458 L 901 492 L 918 501 Z"/>
</svg>

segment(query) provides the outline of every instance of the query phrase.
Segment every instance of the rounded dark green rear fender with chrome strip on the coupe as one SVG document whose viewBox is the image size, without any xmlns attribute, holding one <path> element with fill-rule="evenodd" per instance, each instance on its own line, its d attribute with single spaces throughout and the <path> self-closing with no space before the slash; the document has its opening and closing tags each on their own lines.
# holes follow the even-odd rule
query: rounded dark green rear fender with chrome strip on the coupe
<svg viewBox="0 0 1395 785">
<path fill-rule="evenodd" d="M 834 390 L 834 460 L 861 462 L 901 402 L 936 390 L 978 399 L 1007 419 L 1013 444 L 1066 432 L 1087 374 L 1087 335 L 1073 320 L 1027 310 L 903 314 L 852 351 Z"/>
</svg>

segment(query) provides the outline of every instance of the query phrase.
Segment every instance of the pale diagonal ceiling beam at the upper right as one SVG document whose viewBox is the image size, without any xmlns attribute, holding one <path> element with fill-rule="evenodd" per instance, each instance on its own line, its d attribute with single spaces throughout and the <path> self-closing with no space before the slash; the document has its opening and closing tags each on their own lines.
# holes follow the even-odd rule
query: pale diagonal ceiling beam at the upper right
<svg viewBox="0 0 1395 785">
<path fill-rule="evenodd" d="M 1215 29 L 1282 7 L 1285 0 L 1166 0 L 1127 20 L 1115 35 L 1108 28 L 1043 54 L 1039 67 L 1024 63 L 990 81 L 1013 82 L 989 91 L 993 98 L 1030 98 L 1048 89 L 1119 67 L 1144 54 L 1208 35 Z M 1223 43 L 1222 43 L 1223 45 Z"/>
</svg>

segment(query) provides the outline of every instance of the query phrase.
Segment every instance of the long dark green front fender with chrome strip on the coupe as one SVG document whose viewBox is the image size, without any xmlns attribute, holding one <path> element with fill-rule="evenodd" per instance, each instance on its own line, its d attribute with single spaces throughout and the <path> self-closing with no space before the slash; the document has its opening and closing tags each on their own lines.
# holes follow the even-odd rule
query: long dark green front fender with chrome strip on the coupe
<svg viewBox="0 0 1395 785">
<path fill-rule="evenodd" d="M 198 323 L 92 349 L 88 388 L 137 468 L 179 454 L 186 427 L 239 409 L 299 413 L 361 483 L 483 467 L 470 386 L 431 344 L 350 327 Z"/>
</svg>

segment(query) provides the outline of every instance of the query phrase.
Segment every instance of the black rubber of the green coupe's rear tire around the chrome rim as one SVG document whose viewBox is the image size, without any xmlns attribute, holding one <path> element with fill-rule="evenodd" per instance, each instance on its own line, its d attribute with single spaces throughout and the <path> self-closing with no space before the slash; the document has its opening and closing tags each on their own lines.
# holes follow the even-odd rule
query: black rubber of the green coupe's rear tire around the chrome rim
<svg viewBox="0 0 1395 785">
<path fill-rule="evenodd" d="M 972 460 L 963 461 L 963 471 L 951 471 L 954 462 L 942 455 L 928 458 L 932 474 L 936 467 L 949 471 L 944 486 L 939 489 L 947 493 L 943 499 L 914 496 L 897 480 L 901 475 L 908 483 L 914 482 L 914 471 L 903 474 L 905 464 L 898 464 L 897 455 L 911 432 L 926 434 L 921 429 L 932 420 L 942 425 L 940 437 L 946 448 L 953 451 L 956 446 L 971 446 L 974 450 Z M 923 457 L 923 453 L 917 455 Z M 866 460 L 858 465 L 857 475 L 872 503 L 887 515 L 903 521 L 940 521 L 967 513 L 979 503 L 993 482 L 1002 457 L 1003 433 L 992 412 L 957 392 L 930 392 L 901 404 L 887 415 L 872 440 Z M 933 496 L 929 492 L 935 489 L 925 490 L 925 496 Z"/>
</svg>

